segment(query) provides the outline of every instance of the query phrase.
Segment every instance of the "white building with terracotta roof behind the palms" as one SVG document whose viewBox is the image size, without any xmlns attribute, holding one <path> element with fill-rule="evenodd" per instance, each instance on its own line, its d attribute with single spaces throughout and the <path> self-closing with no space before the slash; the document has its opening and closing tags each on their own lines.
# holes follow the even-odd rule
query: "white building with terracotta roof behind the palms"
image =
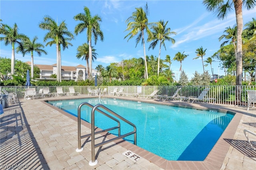
<svg viewBox="0 0 256 170">
<path fill-rule="evenodd" d="M 31 62 L 26 62 L 28 65 L 31 66 Z M 53 65 L 42 65 L 42 64 L 34 64 L 36 67 L 40 69 L 40 78 L 37 80 L 55 80 L 52 79 L 50 76 L 52 74 L 57 74 L 57 64 Z M 92 69 L 92 77 L 95 75 L 99 75 L 95 69 Z M 77 65 L 77 66 L 61 66 L 61 79 L 62 80 L 86 80 L 87 79 L 87 72 L 86 67 L 84 65 Z"/>
</svg>

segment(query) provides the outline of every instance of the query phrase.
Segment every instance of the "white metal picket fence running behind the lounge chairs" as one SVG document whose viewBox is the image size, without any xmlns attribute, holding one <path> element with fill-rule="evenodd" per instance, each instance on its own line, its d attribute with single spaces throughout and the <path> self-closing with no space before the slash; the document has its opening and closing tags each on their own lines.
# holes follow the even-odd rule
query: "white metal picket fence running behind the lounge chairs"
<svg viewBox="0 0 256 170">
<path fill-rule="evenodd" d="M 76 92 L 79 92 L 80 95 L 88 95 L 88 88 L 91 90 L 96 90 L 98 88 L 104 89 L 107 88 L 107 94 L 110 94 L 110 91 L 113 91 L 115 87 L 124 88 L 124 93 L 135 94 L 138 93 L 138 89 L 141 89 L 141 95 L 150 95 L 154 90 L 159 90 L 157 95 L 168 95 L 172 96 L 173 93 L 178 88 L 182 88 L 179 91 L 180 96 L 188 97 L 195 96 L 198 97 L 201 91 L 205 88 L 210 88 L 207 93 L 207 97 L 215 98 L 217 104 L 224 105 L 238 105 L 246 106 L 247 105 L 247 92 L 246 90 L 256 90 L 255 85 L 244 85 L 244 86 L 30 86 L 30 88 L 35 88 L 38 92 L 39 89 L 43 87 L 49 87 L 51 93 L 56 92 L 56 87 L 62 87 L 63 92 L 69 92 L 68 87 L 74 87 Z M 18 99 L 24 98 L 24 91 L 26 86 L 1 86 L 2 89 L 6 89 L 8 93 L 16 93 Z M 240 93 L 239 93 L 240 92 Z"/>
</svg>

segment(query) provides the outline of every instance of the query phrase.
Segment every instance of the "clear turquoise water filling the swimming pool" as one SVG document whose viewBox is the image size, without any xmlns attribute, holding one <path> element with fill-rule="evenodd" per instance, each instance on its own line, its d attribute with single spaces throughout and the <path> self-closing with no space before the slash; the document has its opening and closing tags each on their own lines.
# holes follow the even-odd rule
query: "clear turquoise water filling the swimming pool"
<svg viewBox="0 0 256 170">
<path fill-rule="evenodd" d="M 132 122 L 137 128 L 137 145 L 167 160 L 204 160 L 234 117 L 228 113 L 118 99 L 76 99 L 48 103 L 77 117 L 78 106 L 83 102 L 102 104 Z M 88 106 L 83 106 L 81 118 L 90 123 L 91 111 Z M 121 134 L 133 130 L 130 125 L 120 123 Z M 116 125 L 108 117 L 95 113 L 96 127 L 106 129 Z M 118 134 L 117 130 L 110 132 Z M 125 139 L 134 142 L 133 135 Z"/>
</svg>

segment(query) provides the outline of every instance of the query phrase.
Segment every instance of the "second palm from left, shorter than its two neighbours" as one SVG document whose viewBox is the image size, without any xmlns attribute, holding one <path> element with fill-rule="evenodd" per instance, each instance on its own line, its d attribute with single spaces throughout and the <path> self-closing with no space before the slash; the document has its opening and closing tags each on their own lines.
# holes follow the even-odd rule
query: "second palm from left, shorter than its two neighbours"
<svg viewBox="0 0 256 170">
<path fill-rule="evenodd" d="M 26 53 L 31 53 L 31 77 L 34 77 L 34 51 L 37 53 L 38 56 L 41 56 L 42 53 L 47 55 L 47 52 L 43 49 L 44 45 L 42 43 L 36 43 L 36 40 L 38 40 L 38 37 L 35 36 L 32 41 L 30 39 L 26 39 L 24 42 L 22 42 L 24 51 L 20 49 L 20 47 L 16 48 L 16 51 L 19 52 L 21 51 L 23 54 L 23 57 Z"/>
</svg>

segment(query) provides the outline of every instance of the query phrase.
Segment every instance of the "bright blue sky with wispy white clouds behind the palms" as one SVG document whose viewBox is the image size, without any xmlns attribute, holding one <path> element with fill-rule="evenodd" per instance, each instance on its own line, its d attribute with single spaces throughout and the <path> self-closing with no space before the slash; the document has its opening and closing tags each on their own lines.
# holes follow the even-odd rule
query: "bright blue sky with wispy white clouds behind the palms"
<svg viewBox="0 0 256 170">
<path fill-rule="evenodd" d="M 213 13 L 206 11 L 202 0 L 1 0 L 0 18 L 2 23 L 11 27 L 16 23 L 19 33 L 27 35 L 30 39 L 38 36 L 38 42 L 45 45 L 43 38 L 47 31 L 38 27 L 44 16 L 51 16 L 58 23 L 65 20 L 68 30 L 73 33 L 75 26 L 79 23 L 73 19 L 74 16 L 83 13 L 84 6 L 87 6 L 92 16 L 98 14 L 102 18 L 100 27 L 104 34 L 103 42 L 98 41 L 95 45 L 92 41 L 96 53 L 98 53 L 92 67 L 95 68 L 100 64 L 106 67 L 110 63 L 120 62 L 122 59 L 144 58 L 141 43 L 135 47 L 136 38 L 127 42 L 128 39 L 124 39 L 124 37 L 128 34 L 125 32 L 126 19 L 131 16 L 135 8 L 144 8 L 146 2 L 149 9 L 149 22 L 168 21 L 167 27 L 177 33 L 177 35 L 172 36 L 176 40 L 175 44 L 165 42 L 166 50 L 162 47 L 161 59 L 165 59 L 166 55 L 173 58 L 177 52 L 185 51 L 184 53 L 189 56 L 182 61 L 182 69 L 189 79 L 193 77 L 195 71 L 203 72 L 201 57 L 193 59 L 196 57 L 196 49 L 201 46 L 203 49 L 207 49 L 204 60 L 211 57 L 222 43 L 222 41 L 218 41 L 218 38 L 223 34 L 225 28 L 233 27 L 236 24 L 234 11 L 230 12 L 226 19 L 218 20 Z M 243 10 L 244 24 L 252 21 L 253 17 L 256 17 L 255 9 Z M 76 58 L 77 47 L 86 42 L 86 32 L 75 36 L 75 40 L 70 42 L 73 46 L 62 51 L 62 65 L 76 66 L 82 64 L 86 66 L 84 60 Z M 159 45 L 154 50 L 150 49 L 149 51 L 148 46 L 149 43 L 146 44 L 146 55 L 158 57 Z M 0 42 L 0 49 L 1 57 L 11 58 L 11 45 L 5 46 L 3 42 Z M 38 57 L 34 53 L 34 64 L 52 65 L 56 63 L 56 47 L 52 45 L 52 47 L 46 46 L 44 49 L 48 55 L 43 54 Z M 31 61 L 30 54 L 23 57 L 22 54 L 15 53 L 15 58 L 21 61 Z M 212 63 L 214 74 L 224 75 L 224 71 L 218 66 L 218 61 Z M 171 69 L 175 73 L 176 79 L 179 79 L 179 68 L 180 62 L 172 61 Z M 205 67 L 205 70 L 211 74 L 210 65 Z"/>
</svg>

